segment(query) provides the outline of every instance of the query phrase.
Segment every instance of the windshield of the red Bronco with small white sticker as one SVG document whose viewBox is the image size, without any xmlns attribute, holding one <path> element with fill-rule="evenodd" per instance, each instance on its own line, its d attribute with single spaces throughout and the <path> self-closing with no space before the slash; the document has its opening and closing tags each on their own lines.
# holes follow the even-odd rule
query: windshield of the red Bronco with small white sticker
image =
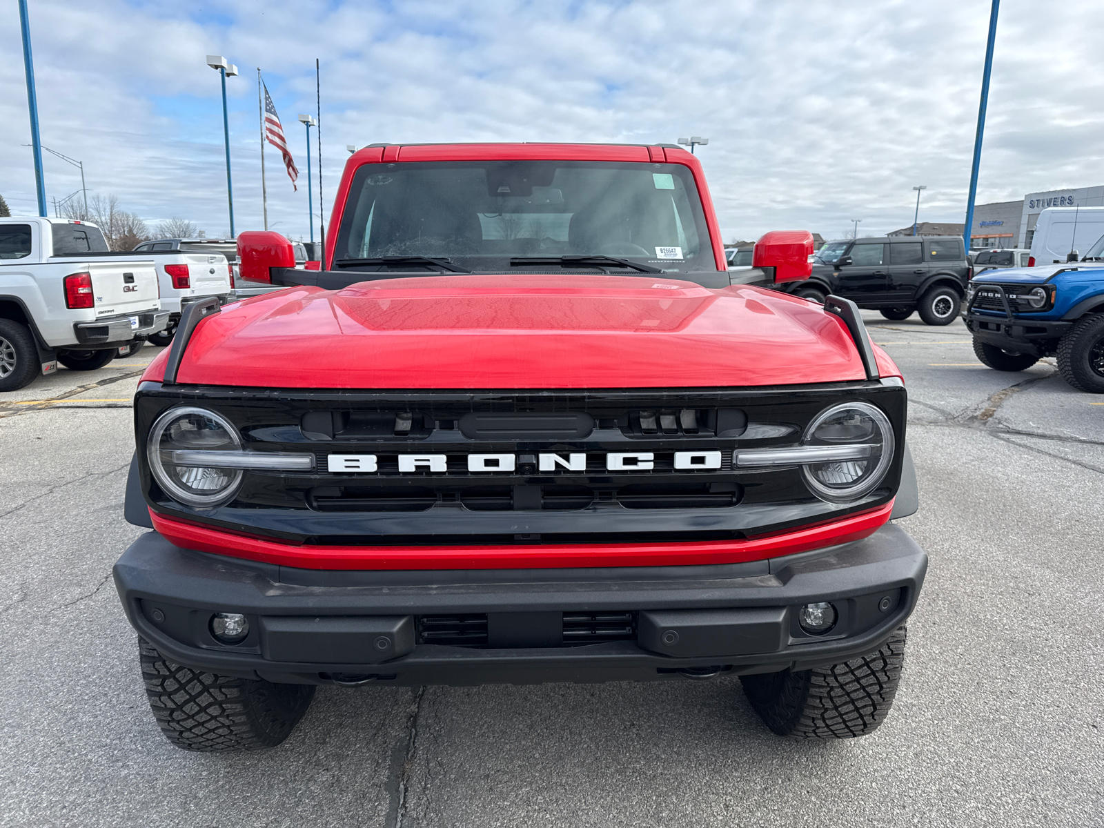
<svg viewBox="0 0 1104 828">
<path fill-rule="evenodd" d="M 446 259 L 484 272 L 548 273 L 548 261 L 560 256 L 612 256 L 671 272 L 716 269 L 693 177 L 672 163 L 365 164 L 350 188 L 335 265 L 378 269 L 385 265 L 364 259 L 386 256 Z M 432 263 L 403 267 L 437 269 Z"/>
</svg>

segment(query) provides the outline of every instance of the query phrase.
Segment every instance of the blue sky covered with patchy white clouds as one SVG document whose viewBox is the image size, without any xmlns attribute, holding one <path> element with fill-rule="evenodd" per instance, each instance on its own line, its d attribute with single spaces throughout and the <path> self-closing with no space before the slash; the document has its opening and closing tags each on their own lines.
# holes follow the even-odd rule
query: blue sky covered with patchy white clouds
<svg viewBox="0 0 1104 828">
<path fill-rule="evenodd" d="M 235 224 L 259 229 L 256 67 L 288 134 L 269 223 L 307 234 L 304 128 L 322 75 L 326 213 L 346 145 L 710 139 L 725 241 L 963 221 L 988 0 L 29 0 L 42 141 L 150 223 L 222 234 L 224 54 Z M 1006 0 L 978 202 L 1104 183 L 1104 3 Z M 0 10 L 0 194 L 34 213 L 14 2 Z M 47 198 L 81 185 L 50 157 Z M 317 168 L 316 168 L 317 174 Z M 317 181 L 316 181 L 316 211 Z"/>
</svg>

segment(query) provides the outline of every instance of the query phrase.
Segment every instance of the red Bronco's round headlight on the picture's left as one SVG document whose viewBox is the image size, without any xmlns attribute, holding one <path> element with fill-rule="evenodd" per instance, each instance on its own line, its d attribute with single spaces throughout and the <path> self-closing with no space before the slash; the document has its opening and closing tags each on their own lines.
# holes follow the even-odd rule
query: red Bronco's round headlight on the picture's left
<svg viewBox="0 0 1104 828">
<path fill-rule="evenodd" d="M 205 408 L 184 406 L 170 408 L 153 423 L 146 442 L 146 456 L 153 479 L 169 497 L 187 506 L 212 507 L 234 496 L 242 470 L 180 465 L 173 463 L 172 453 L 233 452 L 241 447 L 237 429 L 223 417 Z"/>
</svg>

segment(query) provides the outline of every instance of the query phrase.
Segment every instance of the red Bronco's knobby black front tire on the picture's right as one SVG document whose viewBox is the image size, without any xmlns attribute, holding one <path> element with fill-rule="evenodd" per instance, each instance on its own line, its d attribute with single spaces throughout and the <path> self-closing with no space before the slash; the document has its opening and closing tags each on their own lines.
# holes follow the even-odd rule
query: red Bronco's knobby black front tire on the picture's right
<svg viewBox="0 0 1104 828">
<path fill-rule="evenodd" d="M 905 628 L 877 652 L 813 670 L 741 676 L 744 693 L 767 728 L 794 739 L 854 739 L 890 712 L 904 666 Z"/>
</svg>

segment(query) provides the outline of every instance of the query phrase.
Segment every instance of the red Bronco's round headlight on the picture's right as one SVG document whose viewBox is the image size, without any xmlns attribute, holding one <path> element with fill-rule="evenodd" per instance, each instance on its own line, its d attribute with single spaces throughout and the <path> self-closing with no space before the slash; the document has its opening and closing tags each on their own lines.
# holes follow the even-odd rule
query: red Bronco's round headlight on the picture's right
<svg viewBox="0 0 1104 828">
<path fill-rule="evenodd" d="M 805 482 L 818 498 L 832 502 L 856 500 L 871 491 L 893 461 L 893 426 L 869 403 L 843 403 L 826 408 L 805 431 L 806 446 L 867 447 L 861 459 L 813 463 L 802 467 Z"/>
</svg>

